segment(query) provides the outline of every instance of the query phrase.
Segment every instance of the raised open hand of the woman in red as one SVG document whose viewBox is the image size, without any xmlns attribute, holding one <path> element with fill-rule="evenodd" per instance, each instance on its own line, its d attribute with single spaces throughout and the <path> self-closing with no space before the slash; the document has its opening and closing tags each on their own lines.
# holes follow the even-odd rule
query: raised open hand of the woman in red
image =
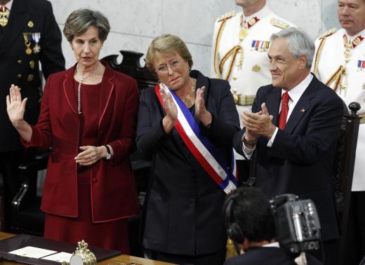
<svg viewBox="0 0 365 265">
<path fill-rule="evenodd" d="M 15 128 L 20 121 L 23 121 L 25 104 L 27 104 L 27 98 L 22 100 L 18 86 L 11 85 L 10 93 L 6 96 L 6 111 Z"/>
</svg>

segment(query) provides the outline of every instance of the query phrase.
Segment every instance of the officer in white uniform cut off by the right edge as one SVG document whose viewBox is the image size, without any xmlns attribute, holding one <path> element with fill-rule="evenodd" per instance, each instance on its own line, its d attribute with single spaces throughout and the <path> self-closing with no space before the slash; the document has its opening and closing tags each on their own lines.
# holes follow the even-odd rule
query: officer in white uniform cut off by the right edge
<svg viewBox="0 0 365 265">
<path fill-rule="evenodd" d="M 338 20 L 340 29 L 330 29 L 316 40 L 316 53 L 312 72 L 327 86 L 330 86 L 348 106 L 359 102 L 361 116 L 359 138 L 352 182 L 352 205 L 365 203 L 365 0 L 339 0 Z M 352 206 L 351 206 L 352 207 Z M 353 209 L 357 215 L 355 238 L 351 238 L 352 251 L 359 247 L 359 254 L 347 254 L 346 257 L 358 255 L 354 263 L 364 255 L 365 215 L 364 210 Z M 349 229 L 351 229 L 349 225 Z M 361 249 L 361 250 L 360 250 Z"/>
</svg>

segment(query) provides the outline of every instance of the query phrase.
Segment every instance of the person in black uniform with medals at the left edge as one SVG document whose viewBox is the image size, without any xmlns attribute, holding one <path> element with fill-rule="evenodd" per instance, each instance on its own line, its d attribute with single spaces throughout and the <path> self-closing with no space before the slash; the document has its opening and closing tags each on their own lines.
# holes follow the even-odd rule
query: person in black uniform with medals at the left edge
<svg viewBox="0 0 365 265">
<path fill-rule="evenodd" d="M 52 6 L 46 0 L 0 0 L 0 98 L 6 98 L 11 84 L 27 97 L 25 120 L 35 124 L 44 77 L 65 69 L 61 32 Z M 20 186 L 18 166 L 25 157 L 18 132 L 0 104 L 0 173 L 4 179 L 6 226 L 13 197 Z"/>
</svg>

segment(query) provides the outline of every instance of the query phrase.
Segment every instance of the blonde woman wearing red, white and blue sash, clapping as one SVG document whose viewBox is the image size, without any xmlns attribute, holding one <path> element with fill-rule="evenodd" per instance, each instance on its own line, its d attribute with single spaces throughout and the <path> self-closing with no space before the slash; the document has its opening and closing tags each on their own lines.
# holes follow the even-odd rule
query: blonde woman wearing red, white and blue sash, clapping
<svg viewBox="0 0 365 265">
<path fill-rule="evenodd" d="M 154 39 L 147 67 L 159 85 L 145 89 L 137 147 L 152 157 L 143 245 L 152 259 L 223 264 L 226 193 L 237 186 L 232 137 L 239 116 L 227 81 L 191 70 L 192 55 L 171 34 Z"/>
</svg>

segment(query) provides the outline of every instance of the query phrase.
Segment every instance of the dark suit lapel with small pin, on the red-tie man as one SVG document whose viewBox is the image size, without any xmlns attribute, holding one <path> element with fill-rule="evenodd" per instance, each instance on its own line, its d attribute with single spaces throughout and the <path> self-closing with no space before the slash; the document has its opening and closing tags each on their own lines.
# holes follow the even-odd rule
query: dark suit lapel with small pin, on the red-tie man
<svg viewBox="0 0 365 265">
<path fill-rule="evenodd" d="M 296 107 L 294 107 L 293 111 L 291 111 L 291 115 L 289 116 L 288 122 L 286 123 L 284 129 L 286 132 L 293 132 L 293 130 L 296 128 L 296 125 L 298 125 L 300 120 L 305 115 L 305 112 L 310 108 L 310 100 L 312 100 L 316 94 L 316 82 L 317 78 L 313 76 L 310 85 L 305 89 L 303 95 L 298 100 Z"/>
</svg>

